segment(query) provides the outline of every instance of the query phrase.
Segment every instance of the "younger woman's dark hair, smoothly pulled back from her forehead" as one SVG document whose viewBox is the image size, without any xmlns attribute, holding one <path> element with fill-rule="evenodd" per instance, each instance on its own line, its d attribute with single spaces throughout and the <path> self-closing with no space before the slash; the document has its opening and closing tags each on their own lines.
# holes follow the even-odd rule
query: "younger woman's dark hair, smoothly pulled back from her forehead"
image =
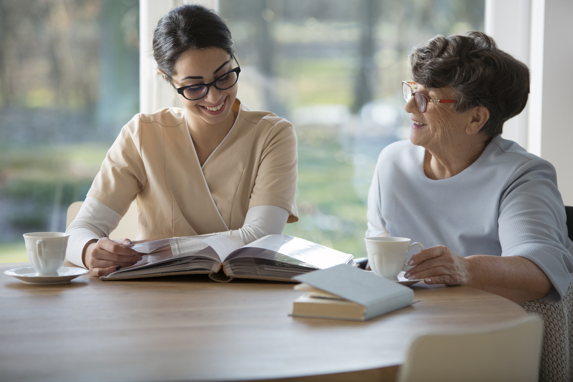
<svg viewBox="0 0 573 382">
<path fill-rule="evenodd" d="M 187 49 L 217 47 L 233 54 L 233 38 L 225 20 L 199 4 L 178 6 L 164 15 L 153 33 L 158 69 L 172 77 L 175 62 Z"/>
</svg>

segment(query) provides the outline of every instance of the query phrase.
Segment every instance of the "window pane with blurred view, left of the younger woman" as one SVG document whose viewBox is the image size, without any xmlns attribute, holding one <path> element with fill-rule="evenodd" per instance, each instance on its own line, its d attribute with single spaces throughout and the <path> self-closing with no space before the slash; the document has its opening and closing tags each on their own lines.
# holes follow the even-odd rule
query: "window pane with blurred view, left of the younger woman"
<svg viewBox="0 0 573 382">
<path fill-rule="evenodd" d="M 64 231 L 139 111 L 138 0 L 0 0 L 0 262 Z"/>
</svg>

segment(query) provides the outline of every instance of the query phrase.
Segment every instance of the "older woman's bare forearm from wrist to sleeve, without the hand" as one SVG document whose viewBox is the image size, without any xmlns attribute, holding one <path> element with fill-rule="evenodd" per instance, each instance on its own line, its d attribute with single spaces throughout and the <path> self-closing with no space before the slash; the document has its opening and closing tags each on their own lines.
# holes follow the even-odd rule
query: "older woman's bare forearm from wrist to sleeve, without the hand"
<svg viewBox="0 0 573 382">
<path fill-rule="evenodd" d="M 553 288 L 543 270 L 524 257 L 477 255 L 466 259 L 470 269 L 465 285 L 508 298 L 517 304 L 544 297 Z"/>
</svg>

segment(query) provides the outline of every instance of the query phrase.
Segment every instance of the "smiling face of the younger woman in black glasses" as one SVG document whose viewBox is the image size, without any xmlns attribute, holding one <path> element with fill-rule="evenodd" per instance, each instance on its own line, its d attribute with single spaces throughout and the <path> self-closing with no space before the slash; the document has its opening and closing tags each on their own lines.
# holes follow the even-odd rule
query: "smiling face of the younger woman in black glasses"
<svg viewBox="0 0 573 382">
<path fill-rule="evenodd" d="M 177 88 L 209 84 L 236 65 L 230 54 L 221 48 L 189 49 L 175 63 L 175 74 L 171 81 Z M 237 84 L 226 90 L 210 86 L 207 95 L 195 101 L 187 100 L 179 94 L 181 102 L 190 113 L 210 124 L 221 123 L 229 118 L 236 97 Z"/>
</svg>

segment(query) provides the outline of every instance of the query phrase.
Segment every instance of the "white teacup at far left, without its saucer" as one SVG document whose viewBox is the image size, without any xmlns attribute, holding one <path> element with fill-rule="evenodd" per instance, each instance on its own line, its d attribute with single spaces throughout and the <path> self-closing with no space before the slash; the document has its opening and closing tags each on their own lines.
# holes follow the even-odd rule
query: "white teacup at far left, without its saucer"
<svg viewBox="0 0 573 382">
<path fill-rule="evenodd" d="M 63 232 L 24 234 L 28 259 L 37 276 L 57 276 L 64 263 L 69 235 Z"/>
</svg>

